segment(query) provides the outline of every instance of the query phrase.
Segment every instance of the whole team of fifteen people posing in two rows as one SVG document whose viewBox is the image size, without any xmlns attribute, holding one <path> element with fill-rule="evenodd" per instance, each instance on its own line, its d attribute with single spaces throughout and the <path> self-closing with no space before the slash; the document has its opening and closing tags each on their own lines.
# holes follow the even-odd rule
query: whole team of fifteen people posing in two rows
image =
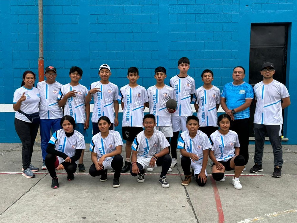
<svg viewBox="0 0 297 223">
<path fill-rule="evenodd" d="M 281 177 L 282 109 L 290 105 L 290 95 L 283 84 L 273 79 L 274 65 L 270 62 L 262 65 L 260 74 L 263 81 L 254 89 L 244 82 L 244 68 L 235 67 L 233 81 L 224 86 L 222 93 L 212 85 L 214 74 L 208 69 L 201 74 L 203 86 L 196 89 L 194 78 L 187 74 L 189 67 L 187 57 L 179 59 L 179 74 L 170 79 L 170 86 L 164 83 L 166 69 L 157 67 L 156 84 L 147 90 L 137 84 L 138 69 L 130 67 L 127 72 L 129 83 L 120 91 L 109 81 L 111 69 L 107 64 L 99 67 L 100 80 L 92 83 L 89 89 L 79 84 L 83 74 L 79 67 L 71 67 L 70 83 L 62 85 L 56 81 L 56 68 L 48 66 L 45 69 L 46 80 L 39 82 L 36 88 L 36 75 L 25 71 L 22 85 L 15 90 L 13 97 L 15 130 L 23 144 L 23 176 L 33 178 L 34 172 L 39 170 L 31 165 L 39 127 L 41 169 L 48 169 L 52 188 L 59 187 L 56 170 L 65 169 L 69 181 L 74 179 L 77 167 L 80 172 L 85 171 L 84 137 L 89 128 L 90 101 L 93 98 L 93 137 L 90 144 L 93 164 L 89 173 L 101 176 L 100 181 L 106 181 L 110 169 L 114 172 L 113 187 L 120 186 L 121 173 L 130 171 L 142 183 L 146 171 L 162 167 L 159 182 L 168 188 L 166 174 L 177 164 L 176 150 L 179 149 L 184 172 L 182 185 L 189 185 L 192 177 L 199 186 L 206 184 L 209 157 L 214 180 L 225 181 L 225 171 L 234 170 L 231 183 L 236 189 L 241 189 L 239 177 L 249 158 L 249 106 L 253 100 L 256 104 L 255 165 L 250 172 L 263 171 L 263 145 L 267 133 L 274 153 L 272 176 Z M 176 109 L 166 107 L 169 99 L 176 100 Z M 119 125 L 118 100 L 123 110 L 122 137 L 114 131 Z M 192 101 L 197 116 L 192 115 Z M 225 113 L 218 117 L 219 105 Z M 149 108 L 149 114 L 144 115 L 145 107 Z M 122 139 L 126 140 L 125 164 L 121 156 Z"/>
</svg>

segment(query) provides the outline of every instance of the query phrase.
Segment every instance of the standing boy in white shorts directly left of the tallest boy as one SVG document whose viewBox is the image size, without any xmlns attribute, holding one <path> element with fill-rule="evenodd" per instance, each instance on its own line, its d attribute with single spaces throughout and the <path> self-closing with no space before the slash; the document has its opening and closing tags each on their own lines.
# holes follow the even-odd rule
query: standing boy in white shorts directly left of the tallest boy
<svg viewBox="0 0 297 223">
<path fill-rule="evenodd" d="M 161 131 L 170 142 L 170 137 L 173 136 L 173 129 L 171 124 L 171 113 L 175 112 L 173 109 L 166 108 L 166 102 L 174 98 L 174 90 L 172 87 L 164 84 L 166 78 L 166 69 L 164 67 L 157 67 L 155 69 L 155 76 L 157 80 L 156 85 L 147 89 L 149 102 L 146 106 L 149 108 L 149 113 L 156 118 L 157 125 L 155 129 Z M 170 147 L 169 147 L 170 152 Z M 154 168 L 147 168 L 148 172 L 152 172 Z M 168 172 L 172 169 L 169 168 Z"/>
</svg>

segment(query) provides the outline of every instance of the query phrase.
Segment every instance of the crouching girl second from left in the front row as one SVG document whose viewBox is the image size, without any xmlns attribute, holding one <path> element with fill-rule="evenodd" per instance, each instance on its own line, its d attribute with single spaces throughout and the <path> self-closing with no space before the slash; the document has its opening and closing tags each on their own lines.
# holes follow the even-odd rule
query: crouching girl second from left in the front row
<svg viewBox="0 0 297 223">
<path fill-rule="evenodd" d="M 114 170 L 113 187 L 119 187 L 123 157 L 121 156 L 123 141 L 117 131 L 109 130 L 111 122 L 108 117 L 98 120 L 100 132 L 93 136 L 90 151 L 93 164 L 89 169 L 92 177 L 100 176 L 100 181 L 107 180 L 107 170 Z"/>
</svg>

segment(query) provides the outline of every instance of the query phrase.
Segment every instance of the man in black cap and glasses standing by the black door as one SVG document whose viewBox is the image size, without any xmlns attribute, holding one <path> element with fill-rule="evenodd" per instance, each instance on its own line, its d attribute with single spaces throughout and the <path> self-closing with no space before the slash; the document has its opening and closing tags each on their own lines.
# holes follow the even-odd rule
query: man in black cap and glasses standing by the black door
<svg viewBox="0 0 297 223">
<path fill-rule="evenodd" d="M 268 134 L 274 155 L 273 177 L 282 176 L 282 109 L 291 104 L 290 95 L 282 83 L 273 79 L 274 65 L 266 62 L 262 65 L 263 81 L 255 84 L 256 111 L 254 116 L 255 131 L 255 165 L 249 170 L 251 173 L 263 171 L 262 157 L 265 134 Z"/>
</svg>

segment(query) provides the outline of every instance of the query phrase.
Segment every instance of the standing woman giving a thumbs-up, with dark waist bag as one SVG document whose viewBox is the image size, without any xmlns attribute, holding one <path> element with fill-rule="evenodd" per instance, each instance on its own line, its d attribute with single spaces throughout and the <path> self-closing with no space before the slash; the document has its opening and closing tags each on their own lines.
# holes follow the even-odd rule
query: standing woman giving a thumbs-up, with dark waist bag
<svg viewBox="0 0 297 223">
<path fill-rule="evenodd" d="M 31 165 L 33 145 L 39 127 L 38 105 L 39 91 L 34 87 L 36 75 L 30 70 L 23 73 L 21 87 L 13 94 L 13 110 L 15 110 L 15 131 L 22 142 L 23 176 L 34 178 L 33 172 L 39 168 Z M 32 119 L 33 118 L 33 119 Z"/>
</svg>

